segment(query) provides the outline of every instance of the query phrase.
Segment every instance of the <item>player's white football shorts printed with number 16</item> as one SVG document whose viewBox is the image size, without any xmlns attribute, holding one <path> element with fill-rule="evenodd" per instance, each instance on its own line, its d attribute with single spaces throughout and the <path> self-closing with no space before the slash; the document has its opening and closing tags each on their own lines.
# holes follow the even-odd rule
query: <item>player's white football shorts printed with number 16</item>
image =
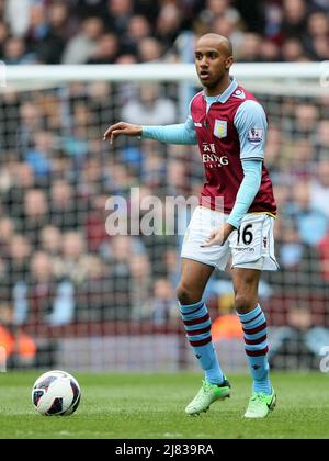
<svg viewBox="0 0 329 461">
<path fill-rule="evenodd" d="M 198 206 L 186 229 L 181 257 L 193 259 L 222 271 L 231 258 L 231 267 L 277 270 L 274 255 L 274 218 L 263 213 L 246 214 L 239 232 L 234 231 L 223 246 L 202 248 L 211 231 L 228 218 L 218 211 Z"/>
</svg>

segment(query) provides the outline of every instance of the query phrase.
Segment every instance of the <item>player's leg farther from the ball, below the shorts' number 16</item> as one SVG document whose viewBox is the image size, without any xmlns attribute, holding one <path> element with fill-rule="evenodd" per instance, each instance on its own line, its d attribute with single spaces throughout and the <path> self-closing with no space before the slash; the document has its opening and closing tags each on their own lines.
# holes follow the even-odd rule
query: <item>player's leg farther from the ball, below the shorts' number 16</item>
<svg viewBox="0 0 329 461">
<path fill-rule="evenodd" d="M 265 417 L 275 405 L 268 360 L 266 318 L 258 302 L 261 271 L 234 268 L 235 308 L 240 318 L 245 348 L 253 379 L 253 393 L 245 414 L 249 418 Z"/>
</svg>

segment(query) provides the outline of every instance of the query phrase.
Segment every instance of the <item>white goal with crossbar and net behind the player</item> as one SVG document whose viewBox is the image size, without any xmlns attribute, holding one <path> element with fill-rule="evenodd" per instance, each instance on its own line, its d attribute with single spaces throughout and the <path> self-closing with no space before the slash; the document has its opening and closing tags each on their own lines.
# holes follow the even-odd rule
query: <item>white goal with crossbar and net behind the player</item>
<svg viewBox="0 0 329 461">
<path fill-rule="evenodd" d="M 281 270 L 263 274 L 260 297 L 272 367 L 318 368 L 329 345 L 326 67 L 236 65 L 232 74 L 270 121 Z M 136 231 L 147 214 L 134 214 L 141 202 L 197 195 L 200 154 L 132 138 L 110 146 L 102 137 L 121 120 L 182 122 L 197 88 L 190 65 L 8 69 L 0 95 L 0 342 L 9 367 L 194 367 L 174 294 L 182 232 L 166 227 L 168 220 L 175 231 L 186 223 L 167 207 L 147 235 L 111 235 L 106 223 L 114 196 L 123 201 L 113 211 Z M 229 273 L 213 276 L 206 300 L 222 363 L 245 368 Z"/>
</svg>

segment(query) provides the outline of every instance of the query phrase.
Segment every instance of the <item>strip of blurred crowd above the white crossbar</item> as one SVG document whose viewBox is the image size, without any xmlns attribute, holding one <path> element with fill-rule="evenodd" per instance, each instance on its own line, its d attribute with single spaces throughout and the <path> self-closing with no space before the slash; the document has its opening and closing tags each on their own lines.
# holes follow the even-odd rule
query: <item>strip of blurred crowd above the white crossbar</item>
<svg viewBox="0 0 329 461">
<path fill-rule="evenodd" d="M 184 37 L 215 32 L 230 37 L 240 61 L 325 60 L 328 12 L 326 0 L 1 0 L 0 57 L 7 64 L 191 60 Z"/>
</svg>

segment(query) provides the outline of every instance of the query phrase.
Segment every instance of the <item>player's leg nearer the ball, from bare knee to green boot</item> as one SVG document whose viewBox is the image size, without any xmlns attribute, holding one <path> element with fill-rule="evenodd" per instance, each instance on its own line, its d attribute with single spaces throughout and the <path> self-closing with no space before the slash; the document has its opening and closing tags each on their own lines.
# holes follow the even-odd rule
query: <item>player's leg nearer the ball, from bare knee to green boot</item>
<svg viewBox="0 0 329 461">
<path fill-rule="evenodd" d="M 182 274 L 177 296 L 188 340 L 205 372 L 202 389 L 185 408 L 189 415 L 206 412 L 213 402 L 229 396 L 230 386 L 218 362 L 212 341 L 212 323 L 203 301 L 203 293 L 213 271 L 212 266 L 192 259 L 182 259 Z"/>
</svg>

